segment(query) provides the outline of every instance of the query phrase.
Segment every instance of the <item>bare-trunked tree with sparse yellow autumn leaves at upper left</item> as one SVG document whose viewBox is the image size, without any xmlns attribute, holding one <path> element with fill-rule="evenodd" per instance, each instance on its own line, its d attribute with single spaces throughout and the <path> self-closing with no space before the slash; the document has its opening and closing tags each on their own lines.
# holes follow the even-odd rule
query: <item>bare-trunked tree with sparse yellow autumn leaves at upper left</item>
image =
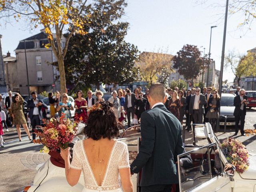
<svg viewBox="0 0 256 192">
<path fill-rule="evenodd" d="M 30 22 L 31 28 L 43 26 L 48 37 L 49 44 L 58 62 L 60 72 L 60 88 L 66 90 L 66 77 L 64 70 L 64 58 L 68 43 L 73 34 L 85 35 L 85 20 L 83 19 L 87 0 L 0 0 L 0 18 L 5 22 L 19 21 L 25 18 Z M 90 14 L 86 15 L 90 17 Z M 61 39 L 65 30 L 70 34 L 65 36 L 65 45 L 61 46 Z"/>
</svg>

